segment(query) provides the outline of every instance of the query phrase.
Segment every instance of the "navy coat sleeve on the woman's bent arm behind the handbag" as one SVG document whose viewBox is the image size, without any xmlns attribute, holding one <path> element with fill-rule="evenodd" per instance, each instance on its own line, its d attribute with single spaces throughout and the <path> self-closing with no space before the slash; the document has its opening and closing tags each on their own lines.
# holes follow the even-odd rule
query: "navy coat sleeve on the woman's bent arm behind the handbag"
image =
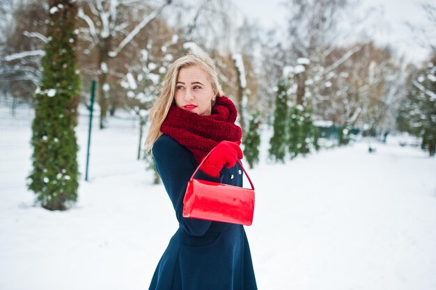
<svg viewBox="0 0 436 290">
<path fill-rule="evenodd" d="M 187 182 L 196 169 L 196 163 L 191 153 L 178 144 L 176 140 L 165 135 L 156 140 L 152 152 L 155 157 L 157 172 L 164 183 L 166 193 L 171 199 L 178 222 L 188 234 L 203 236 L 210 227 L 210 220 L 198 220 L 182 216 L 183 198 L 185 197 Z M 198 177 L 198 175 L 201 175 L 201 177 Z M 214 182 L 219 182 L 222 179 L 222 177 L 214 179 L 199 170 L 196 177 Z"/>
</svg>

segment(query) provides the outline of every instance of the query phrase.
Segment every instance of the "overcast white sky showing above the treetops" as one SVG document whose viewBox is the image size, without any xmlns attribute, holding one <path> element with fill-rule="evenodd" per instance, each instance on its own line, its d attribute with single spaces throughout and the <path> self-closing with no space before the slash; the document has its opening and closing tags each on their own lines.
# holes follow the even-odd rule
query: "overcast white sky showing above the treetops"
<svg viewBox="0 0 436 290">
<path fill-rule="evenodd" d="M 265 27 L 286 26 L 286 9 L 283 0 L 233 0 L 249 19 L 257 19 Z M 427 51 L 416 44 L 414 35 L 405 25 L 424 25 L 425 13 L 417 0 L 361 0 L 356 13 L 375 8 L 377 17 L 368 32 L 380 44 L 389 44 L 408 61 L 419 63 L 428 57 Z"/>
</svg>

